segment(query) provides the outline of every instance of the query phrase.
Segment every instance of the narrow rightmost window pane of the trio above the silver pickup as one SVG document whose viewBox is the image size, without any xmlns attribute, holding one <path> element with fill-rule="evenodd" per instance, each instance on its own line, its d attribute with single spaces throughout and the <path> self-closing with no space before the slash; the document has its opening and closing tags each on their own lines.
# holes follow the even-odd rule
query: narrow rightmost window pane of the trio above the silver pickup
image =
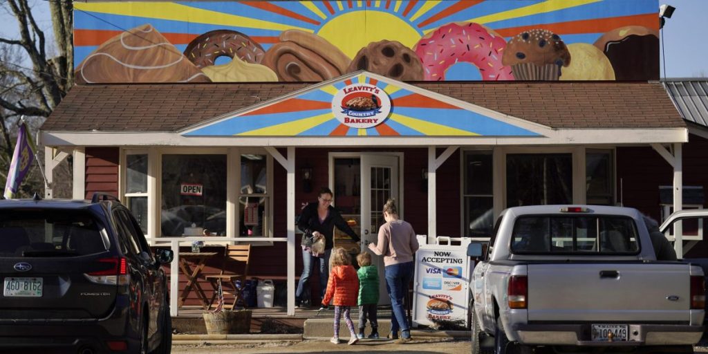
<svg viewBox="0 0 708 354">
<path fill-rule="evenodd" d="M 611 150 L 586 152 L 586 200 L 593 205 L 615 205 L 615 172 Z"/>
</svg>

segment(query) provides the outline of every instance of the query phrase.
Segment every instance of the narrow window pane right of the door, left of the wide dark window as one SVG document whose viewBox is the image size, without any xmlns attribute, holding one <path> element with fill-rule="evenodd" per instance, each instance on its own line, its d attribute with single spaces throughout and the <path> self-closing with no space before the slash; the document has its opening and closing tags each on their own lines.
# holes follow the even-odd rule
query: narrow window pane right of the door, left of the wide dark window
<svg viewBox="0 0 708 354">
<path fill-rule="evenodd" d="M 493 211 L 493 162 L 491 151 L 464 153 L 462 229 L 464 236 L 491 236 Z"/>
</svg>

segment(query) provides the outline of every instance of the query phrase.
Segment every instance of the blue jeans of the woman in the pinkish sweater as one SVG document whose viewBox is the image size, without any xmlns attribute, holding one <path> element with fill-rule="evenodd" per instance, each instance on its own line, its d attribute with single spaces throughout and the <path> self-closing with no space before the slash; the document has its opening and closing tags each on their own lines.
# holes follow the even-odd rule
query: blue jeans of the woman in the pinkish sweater
<svg viewBox="0 0 708 354">
<path fill-rule="evenodd" d="M 384 275 L 394 313 L 391 318 L 391 332 L 396 333 L 400 330 L 401 334 L 404 334 L 403 331 L 409 331 L 407 336 L 410 336 L 411 325 L 408 323 L 406 309 L 403 307 L 403 299 L 408 294 L 413 279 L 413 262 L 387 265 L 384 268 Z"/>
</svg>

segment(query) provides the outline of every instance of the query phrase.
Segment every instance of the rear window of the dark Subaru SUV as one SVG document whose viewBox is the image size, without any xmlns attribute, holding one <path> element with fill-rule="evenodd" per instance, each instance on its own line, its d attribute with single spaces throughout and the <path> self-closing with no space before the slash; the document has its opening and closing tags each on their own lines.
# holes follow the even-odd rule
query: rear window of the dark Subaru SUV
<svg viewBox="0 0 708 354">
<path fill-rule="evenodd" d="M 0 258 L 99 253 L 108 249 L 102 229 L 86 210 L 3 210 Z"/>
</svg>

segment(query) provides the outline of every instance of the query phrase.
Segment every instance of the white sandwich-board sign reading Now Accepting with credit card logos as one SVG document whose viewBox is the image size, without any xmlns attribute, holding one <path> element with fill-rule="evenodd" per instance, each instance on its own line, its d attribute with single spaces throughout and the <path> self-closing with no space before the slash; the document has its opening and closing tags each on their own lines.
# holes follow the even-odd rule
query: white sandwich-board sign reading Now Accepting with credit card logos
<svg viewBox="0 0 708 354">
<path fill-rule="evenodd" d="M 416 252 L 413 322 L 467 322 L 469 303 L 467 246 L 426 245 Z"/>
</svg>

